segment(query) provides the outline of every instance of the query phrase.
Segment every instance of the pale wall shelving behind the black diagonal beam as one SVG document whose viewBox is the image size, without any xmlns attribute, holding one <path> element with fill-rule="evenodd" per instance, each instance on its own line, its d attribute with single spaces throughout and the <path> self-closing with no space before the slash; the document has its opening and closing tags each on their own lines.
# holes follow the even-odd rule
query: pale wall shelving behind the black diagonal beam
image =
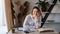
<svg viewBox="0 0 60 34">
<path fill-rule="evenodd" d="M 42 12 L 42 16 L 44 17 L 46 13 L 49 12 Z M 48 20 L 50 20 L 50 22 L 48 22 Z M 43 27 L 53 28 L 56 29 L 58 32 L 60 32 L 60 2 L 59 1 L 57 1 L 56 5 L 52 9 Z"/>
</svg>

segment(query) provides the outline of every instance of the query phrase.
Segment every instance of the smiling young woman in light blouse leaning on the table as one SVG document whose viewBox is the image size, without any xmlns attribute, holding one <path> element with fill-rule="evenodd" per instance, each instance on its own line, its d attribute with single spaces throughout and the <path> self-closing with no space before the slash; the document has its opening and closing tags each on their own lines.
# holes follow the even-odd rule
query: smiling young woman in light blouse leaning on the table
<svg viewBox="0 0 60 34">
<path fill-rule="evenodd" d="M 41 11 L 33 7 L 32 13 L 27 15 L 23 23 L 23 31 L 33 31 L 41 26 Z"/>
</svg>

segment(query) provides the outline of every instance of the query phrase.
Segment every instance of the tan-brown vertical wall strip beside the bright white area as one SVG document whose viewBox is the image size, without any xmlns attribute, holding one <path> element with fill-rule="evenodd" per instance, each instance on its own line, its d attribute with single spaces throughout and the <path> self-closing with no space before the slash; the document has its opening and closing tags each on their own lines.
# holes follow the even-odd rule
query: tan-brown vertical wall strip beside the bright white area
<svg viewBox="0 0 60 34">
<path fill-rule="evenodd" d="M 5 10 L 6 10 L 6 18 L 7 18 L 7 27 L 9 30 L 13 26 L 10 0 L 5 0 Z"/>
</svg>

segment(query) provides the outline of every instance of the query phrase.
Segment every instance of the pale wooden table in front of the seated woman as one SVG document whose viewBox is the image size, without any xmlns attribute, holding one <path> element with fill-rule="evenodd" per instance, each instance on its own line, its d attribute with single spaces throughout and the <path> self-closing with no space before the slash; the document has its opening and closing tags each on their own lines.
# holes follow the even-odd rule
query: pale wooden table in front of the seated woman
<svg viewBox="0 0 60 34">
<path fill-rule="evenodd" d="M 26 33 L 15 29 L 15 33 L 12 33 L 12 30 L 10 30 L 7 34 L 26 34 Z M 59 34 L 59 33 L 56 31 L 55 32 L 44 32 L 44 33 L 40 33 L 39 31 L 34 31 L 34 32 L 30 32 L 29 34 Z"/>
</svg>

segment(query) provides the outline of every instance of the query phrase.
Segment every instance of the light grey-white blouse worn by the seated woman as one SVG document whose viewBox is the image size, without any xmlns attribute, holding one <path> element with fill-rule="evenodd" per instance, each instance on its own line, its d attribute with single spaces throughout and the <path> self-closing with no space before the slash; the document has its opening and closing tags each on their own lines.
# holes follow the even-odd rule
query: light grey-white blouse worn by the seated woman
<svg viewBox="0 0 60 34">
<path fill-rule="evenodd" d="M 41 26 L 41 16 L 38 19 L 33 19 L 31 14 L 27 15 L 23 23 L 23 31 L 35 30 L 36 24 Z"/>
</svg>

